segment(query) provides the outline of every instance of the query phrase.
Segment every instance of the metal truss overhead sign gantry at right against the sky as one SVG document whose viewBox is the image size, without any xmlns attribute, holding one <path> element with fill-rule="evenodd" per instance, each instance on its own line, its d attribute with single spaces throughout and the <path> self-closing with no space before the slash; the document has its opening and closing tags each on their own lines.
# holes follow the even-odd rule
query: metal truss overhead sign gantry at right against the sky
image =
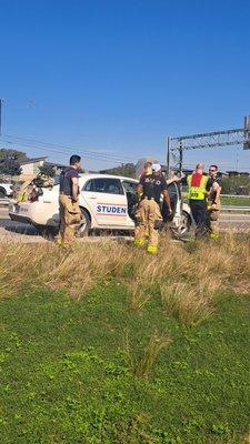
<svg viewBox="0 0 250 444">
<path fill-rule="evenodd" d="M 234 145 L 243 145 L 244 150 L 250 150 L 250 115 L 244 118 L 243 128 L 168 138 L 168 175 L 171 170 L 182 172 L 183 150 Z"/>
</svg>

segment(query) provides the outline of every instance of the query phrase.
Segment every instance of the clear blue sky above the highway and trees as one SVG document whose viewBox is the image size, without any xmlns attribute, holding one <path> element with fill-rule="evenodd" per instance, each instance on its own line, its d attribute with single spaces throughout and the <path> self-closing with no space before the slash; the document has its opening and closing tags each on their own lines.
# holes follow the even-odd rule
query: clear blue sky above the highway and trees
<svg viewBox="0 0 250 444">
<path fill-rule="evenodd" d="M 0 17 L 2 132 L 98 152 L 83 154 L 87 168 L 117 164 L 107 153 L 163 161 L 167 135 L 239 128 L 250 114 L 249 0 L 1 0 Z M 236 159 L 184 157 L 222 169 Z M 250 152 L 239 165 L 250 170 Z"/>
</svg>

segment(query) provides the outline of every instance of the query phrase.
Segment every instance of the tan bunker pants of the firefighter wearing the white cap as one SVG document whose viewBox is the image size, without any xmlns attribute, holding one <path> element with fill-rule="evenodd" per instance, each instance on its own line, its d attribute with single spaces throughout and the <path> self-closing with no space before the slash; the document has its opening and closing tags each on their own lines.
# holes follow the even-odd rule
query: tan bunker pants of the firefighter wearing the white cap
<svg viewBox="0 0 250 444">
<path fill-rule="evenodd" d="M 137 212 L 138 225 L 134 232 L 134 243 L 143 244 L 148 235 L 148 250 L 157 250 L 158 230 L 154 228 L 157 221 L 162 221 L 158 203 L 153 199 L 143 199 Z"/>
</svg>

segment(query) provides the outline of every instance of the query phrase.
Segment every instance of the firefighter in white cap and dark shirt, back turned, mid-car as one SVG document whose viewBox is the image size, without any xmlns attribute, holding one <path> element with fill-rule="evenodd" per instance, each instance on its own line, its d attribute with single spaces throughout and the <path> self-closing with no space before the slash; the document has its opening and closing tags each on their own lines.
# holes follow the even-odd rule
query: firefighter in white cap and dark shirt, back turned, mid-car
<svg viewBox="0 0 250 444">
<path fill-rule="evenodd" d="M 160 211 L 160 196 L 167 204 L 169 213 L 172 213 L 170 198 L 166 179 L 161 175 L 161 165 L 152 164 L 152 174 L 142 175 L 138 185 L 138 194 L 141 198 L 139 211 L 137 213 L 138 223 L 134 232 L 134 245 L 146 244 L 148 235 L 148 252 L 158 252 L 158 226 L 162 221 Z"/>
</svg>

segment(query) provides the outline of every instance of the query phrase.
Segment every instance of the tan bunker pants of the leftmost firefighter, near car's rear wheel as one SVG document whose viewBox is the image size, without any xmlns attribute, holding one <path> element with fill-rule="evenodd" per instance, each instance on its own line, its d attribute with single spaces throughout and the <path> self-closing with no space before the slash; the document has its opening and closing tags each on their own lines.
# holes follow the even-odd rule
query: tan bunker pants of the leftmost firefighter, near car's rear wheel
<svg viewBox="0 0 250 444">
<path fill-rule="evenodd" d="M 69 246 L 74 241 L 77 226 L 81 221 L 81 210 L 78 202 L 64 194 L 59 195 L 59 204 L 60 232 L 58 243 Z"/>
</svg>

